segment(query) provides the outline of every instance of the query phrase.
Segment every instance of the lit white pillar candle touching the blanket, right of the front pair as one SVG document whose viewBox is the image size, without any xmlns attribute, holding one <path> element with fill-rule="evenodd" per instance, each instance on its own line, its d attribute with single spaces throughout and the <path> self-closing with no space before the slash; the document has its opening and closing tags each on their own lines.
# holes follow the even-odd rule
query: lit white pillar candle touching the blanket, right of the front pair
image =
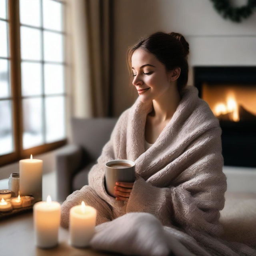
<svg viewBox="0 0 256 256">
<path fill-rule="evenodd" d="M 84 202 L 70 209 L 69 233 L 72 246 L 85 247 L 89 245 L 94 235 L 96 214 L 96 209 L 86 206 Z"/>
</svg>

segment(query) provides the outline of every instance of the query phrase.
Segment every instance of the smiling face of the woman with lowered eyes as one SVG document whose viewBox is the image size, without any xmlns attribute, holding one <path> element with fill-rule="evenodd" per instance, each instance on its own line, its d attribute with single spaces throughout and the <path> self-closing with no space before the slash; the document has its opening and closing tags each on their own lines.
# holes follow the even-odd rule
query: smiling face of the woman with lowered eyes
<svg viewBox="0 0 256 256">
<path fill-rule="evenodd" d="M 132 84 L 136 87 L 140 100 L 158 99 L 170 88 L 170 72 L 154 54 L 138 48 L 132 54 Z M 141 89 L 146 89 L 140 91 Z"/>
</svg>

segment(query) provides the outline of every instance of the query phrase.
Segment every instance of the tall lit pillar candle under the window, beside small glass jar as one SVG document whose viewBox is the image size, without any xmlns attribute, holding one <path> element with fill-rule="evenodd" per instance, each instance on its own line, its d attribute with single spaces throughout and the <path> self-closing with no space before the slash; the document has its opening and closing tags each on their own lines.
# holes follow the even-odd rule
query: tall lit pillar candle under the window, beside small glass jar
<svg viewBox="0 0 256 256">
<path fill-rule="evenodd" d="M 20 195 L 32 195 L 35 202 L 42 200 L 42 166 L 40 159 L 20 160 Z"/>
</svg>

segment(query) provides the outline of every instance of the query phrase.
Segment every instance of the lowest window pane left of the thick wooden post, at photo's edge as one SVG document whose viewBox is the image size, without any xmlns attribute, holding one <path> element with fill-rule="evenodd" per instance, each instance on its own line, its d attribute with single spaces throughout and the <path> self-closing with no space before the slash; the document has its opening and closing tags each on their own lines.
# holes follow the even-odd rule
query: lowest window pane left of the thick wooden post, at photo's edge
<svg viewBox="0 0 256 256">
<path fill-rule="evenodd" d="M 10 100 L 0 100 L 0 155 L 13 152 L 11 108 Z"/>
</svg>

